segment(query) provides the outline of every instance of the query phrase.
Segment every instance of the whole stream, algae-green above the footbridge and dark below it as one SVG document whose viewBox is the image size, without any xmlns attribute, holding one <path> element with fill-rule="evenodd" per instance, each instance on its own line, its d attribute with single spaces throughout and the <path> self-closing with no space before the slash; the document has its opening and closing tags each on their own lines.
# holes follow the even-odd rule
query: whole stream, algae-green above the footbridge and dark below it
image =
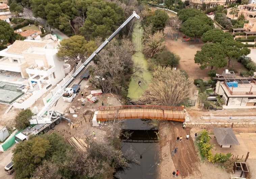
<svg viewBox="0 0 256 179">
<path fill-rule="evenodd" d="M 142 68 L 143 72 L 137 74 L 139 78 L 131 79 L 128 88 L 128 95 L 132 100 L 139 99 L 148 84 L 151 81 L 151 72 L 147 70 L 147 60 L 144 58 L 142 53 L 142 33 L 143 30 L 139 29 L 137 24 L 133 30 L 132 37 L 133 43 L 135 44 L 136 53 L 132 56 L 134 63 L 138 63 Z M 141 85 L 138 85 L 138 81 L 141 81 Z M 130 140 L 137 140 L 139 142 L 123 142 L 122 151 L 125 152 L 127 149 L 132 148 L 134 151 L 134 157 L 139 161 L 139 165 L 131 164 L 130 169 L 124 171 L 118 171 L 115 178 L 118 179 L 130 179 L 130 178 L 157 178 L 157 163 L 159 163 L 159 145 L 158 143 L 145 143 L 144 140 L 155 140 L 157 139 L 155 132 L 158 132 L 158 128 L 152 127 L 148 124 L 146 119 L 126 119 L 122 125 L 122 130 L 129 130 L 132 132 Z"/>
</svg>

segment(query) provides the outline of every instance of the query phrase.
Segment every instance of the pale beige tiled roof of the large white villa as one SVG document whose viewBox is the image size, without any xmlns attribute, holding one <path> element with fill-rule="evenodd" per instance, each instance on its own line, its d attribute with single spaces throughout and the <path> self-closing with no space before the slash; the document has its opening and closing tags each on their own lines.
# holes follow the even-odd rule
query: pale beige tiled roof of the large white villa
<svg viewBox="0 0 256 179">
<path fill-rule="evenodd" d="M 26 40 L 16 40 L 11 47 L 6 51 L 7 53 L 22 54 L 25 50 L 28 50 L 30 47 L 45 47 L 46 43 L 44 42 L 32 42 Z"/>
</svg>

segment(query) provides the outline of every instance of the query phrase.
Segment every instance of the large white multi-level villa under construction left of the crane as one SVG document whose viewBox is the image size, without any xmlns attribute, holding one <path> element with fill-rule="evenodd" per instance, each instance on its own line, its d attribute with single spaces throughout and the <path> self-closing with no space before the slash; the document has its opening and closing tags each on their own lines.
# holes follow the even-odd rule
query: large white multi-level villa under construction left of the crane
<svg viewBox="0 0 256 179">
<path fill-rule="evenodd" d="M 19 72 L 28 79 L 30 89 L 56 85 L 65 77 L 63 61 L 56 57 L 57 41 L 16 40 L 0 51 L 0 69 Z"/>
</svg>

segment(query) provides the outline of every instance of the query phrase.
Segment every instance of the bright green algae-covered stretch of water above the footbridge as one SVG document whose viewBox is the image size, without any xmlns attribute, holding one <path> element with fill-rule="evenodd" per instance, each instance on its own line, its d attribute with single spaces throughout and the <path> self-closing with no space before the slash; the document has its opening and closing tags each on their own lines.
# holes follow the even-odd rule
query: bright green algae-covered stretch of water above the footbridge
<svg viewBox="0 0 256 179">
<path fill-rule="evenodd" d="M 148 84 L 151 81 L 151 72 L 147 70 L 147 60 L 144 58 L 142 53 L 143 44 L 142 44 L 142 28 L 139 28 L 139 24 L 135 26 L 132 32 L 132 41 L 135 46 L 135 53 L 132 56 L 132 60 L 135 64 L 140 65 L 143 68 L 142 73 L 137 73 L 136 75 L 139 78 L 132 78 L 128 88 L 127 97 L 137 100 L 142 95 L 142 93 L 148 88 Z M 138 85 L 138 81 L 141 81 L 141 85 Z"/>
</svg>

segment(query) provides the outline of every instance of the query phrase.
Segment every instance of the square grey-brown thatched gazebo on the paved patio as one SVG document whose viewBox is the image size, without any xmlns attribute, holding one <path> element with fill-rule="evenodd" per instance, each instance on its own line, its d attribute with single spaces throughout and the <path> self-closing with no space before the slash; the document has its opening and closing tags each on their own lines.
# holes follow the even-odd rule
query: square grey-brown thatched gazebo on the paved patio
<svg viewBox="0 0 256 179">
<path fill-rule="evenodd" d="M 240 145 L 231 127 L 213 127 L 214 138 L 221 147 Z"/>
</svg>

